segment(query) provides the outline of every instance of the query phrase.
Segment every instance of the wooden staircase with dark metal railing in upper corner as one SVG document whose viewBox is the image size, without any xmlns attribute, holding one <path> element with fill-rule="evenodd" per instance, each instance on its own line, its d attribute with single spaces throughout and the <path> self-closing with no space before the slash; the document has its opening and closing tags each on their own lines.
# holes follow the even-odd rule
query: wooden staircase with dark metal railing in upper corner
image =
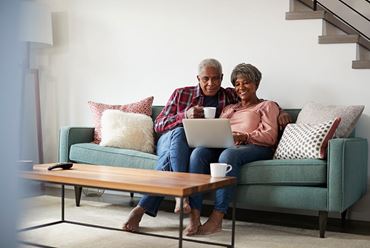
<svg viewBox="0 0 370 248">
<path fill-rule="evenodd" d="M 367 0 L 364 0 L 369 4 Z M 356 43 L 356 60 L 352 61 L 353 69 L 370 69 L 370 39 L 360 30 L 346 23 L 338 14 L 326 8 L 321 1 L 290 0 L 289 12 L 286 12 L 286 20 L 322 19 L 322 35 L 319 36 L 319 44 Z M 322 1 L 324 2 L 324 1 Z M 338 1 L 348 7 L 344 1 Z M 351 7 L 350 7 L 351 8 Z M 357 11 L 354 10 L 356 13 Z M 365 18 L 370 29 L 370 21 Z"/>
</svg>

